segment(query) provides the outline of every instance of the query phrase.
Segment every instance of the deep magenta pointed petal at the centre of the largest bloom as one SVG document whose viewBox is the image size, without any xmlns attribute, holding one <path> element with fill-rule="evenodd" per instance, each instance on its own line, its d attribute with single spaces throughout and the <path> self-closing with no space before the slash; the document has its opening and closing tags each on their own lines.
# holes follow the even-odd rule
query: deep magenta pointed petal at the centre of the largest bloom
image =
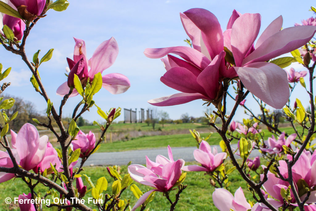
<svg viewBox="0 0 316 211">
<path fill-rule="evenodd" d="M 219 89 L 219 66 L 224 56 L 224 51 L 216 55 L 210 65 L 197 77 L 197 83 L 204 88 L 211 99 L 215 99 Z"/>
</svg>

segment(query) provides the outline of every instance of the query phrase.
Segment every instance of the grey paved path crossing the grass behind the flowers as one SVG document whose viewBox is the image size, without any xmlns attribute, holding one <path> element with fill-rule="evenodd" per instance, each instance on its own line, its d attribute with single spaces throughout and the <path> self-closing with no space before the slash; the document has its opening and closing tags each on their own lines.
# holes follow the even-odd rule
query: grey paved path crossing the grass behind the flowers
<svg viewBox="0 0 316 211">
<path fill-rule="evenodd" d="M 219 146 L 217 147 L 217 151 L 221 152 L 222 149 Z M 233 148 L 237 147 L 237 144 L 232 144 Z M 213 146 L 212 146 L 213 148 Z M 194 161 L 193 151 L 197 149 L 196 147 L 173 147 L 172 153 L 173 158 L 179 159 L 182 158 L 186 162 Z M 133 164 L 145 164 L 146 158 L 148 156 L 149 159 L 155 161 L 157 155 L 163 155 L 168 157 L 167 147 L 165 148 L 157 148 L 157 149 L 144 149 L 144 150 L 132 150 L 125 152 L 99 152 L 94 153 L 90 156 L 90 158 L 85 162 L 85 166 L 87 165 L 126 165 L 128 162 L 132 161 Z M 258 150 L 254 150 L 251 153 L 251 157 L 256 157 L 259 155 Z M 80 163 L 80 162 L 78 162 Z"/>
</svg>

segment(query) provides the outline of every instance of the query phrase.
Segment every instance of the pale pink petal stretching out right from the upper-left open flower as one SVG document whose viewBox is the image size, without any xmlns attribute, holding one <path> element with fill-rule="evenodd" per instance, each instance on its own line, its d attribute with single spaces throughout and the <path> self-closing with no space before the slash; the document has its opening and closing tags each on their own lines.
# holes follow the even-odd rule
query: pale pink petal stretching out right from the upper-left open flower
<svg viewBox="0 0 316 211">
<path fill-rule="evenodd" d="M 123 74 L 110 73 L 102 76 L 102 87 L 108 90 L 111 94 L 121 94 L 130 88 L 130 80 Z"/>
</svg>

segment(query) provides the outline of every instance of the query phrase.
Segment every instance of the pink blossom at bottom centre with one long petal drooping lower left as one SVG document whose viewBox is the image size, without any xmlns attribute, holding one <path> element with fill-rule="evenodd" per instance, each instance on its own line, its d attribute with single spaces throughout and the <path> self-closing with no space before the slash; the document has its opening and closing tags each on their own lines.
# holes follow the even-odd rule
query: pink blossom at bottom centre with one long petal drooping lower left
<svg viewBox="0 0 316 211">
<path fill-rule="evenodd" d="M 141 184 L 154 187 L 146 193 L 144 193 L 136 202 L 132 210 L 141 206 L 146 201 L 148 196 L 153 191 L 167 192 L 173 188 L 181 176 L 181 168 L 184 165 L 184 160 L 173 160 L 173 155 L 170 146 L 168 146 L 169 159 L 158 155 L 156 162 L 149 160 L 146 156 L 146 167 L 139 164 L 131 164 L 128 166 L 128 173 L 131 178 Z"/>
</svg>

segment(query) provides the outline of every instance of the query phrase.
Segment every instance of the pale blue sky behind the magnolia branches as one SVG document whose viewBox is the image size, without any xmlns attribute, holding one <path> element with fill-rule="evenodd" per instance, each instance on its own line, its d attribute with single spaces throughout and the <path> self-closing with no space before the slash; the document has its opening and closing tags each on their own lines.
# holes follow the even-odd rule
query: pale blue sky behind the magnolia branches
<svg viewBox="0 0 316 211">
<path fill-rule="evenodd" d="M 300 23 L 313 13 L 308 11 L 307 1 L 183 1 L 183 0 L 151 0 L 151 1 L 100 1 L 100 0 L 69 0 L 70 5 L 63 12 L 49 10 L 32 29 L 27 40 L 26 51 L 31 59 L 33 53 L 41 49 L 43 56 L 50 48 L 54 48 L 53 57 L 43 63 L 39 69 L 46 90 L 55 106 L 59 106 L 61 97 L 56 89 L 66 81 L 66 57 L 72 58 L 74 40 L 72 37 L 85 40 L 88 58 L 95 48 L 112 36 L 119 45 L 119 55 L 110 68 L 103 74 L 118 72 L 126 75 L 131 81 L 131 88 L 120 95 L 112 95 L 105 89 L 94 97 L 96 104 L 103 110 L 111 107 L 121 108 L 154 108 L 147 100 L 167 96 L 178 91 L 160 82 L 165 69 L 160 59 L 149 59 L 144 56 L 145 48 L 184 46 L 183 40 L 188 38 L 182 27 L 179 13 L 191 8 L 204 8 L 216 15 L 222 28 L 226 28 L 228 19 L 236 9 L 240 13 L 260 13 L 262 16 L 260 33 L 279 15 L 283 16 L 283 28 Z M 11 81 L 4 93 L 22 97 L 36 104 L 37 109 L 46 109 L 45 100 L 34 92 L 29 82 L 31 76 L 27 66 L 17 55 L 0 48 L 0 62 L 4 68 L 12 66 L 10 76 L 5 81 Z M 294 65 L 299 70 L 299 65 Z M 302 69 L 303 70 L 303 69 Z M 303 89 L 298 87 L 296 93 Z M 304 94 L 303 98 L 307 97 Z M 248 96 L 246 105 L 253 107 L 254 101 Z M 80 96 L 72 97 L 64 107 L 64 115 L 70 116 Z M 232 103 L 232 102 L 230 102 Z M 157 107 L 167 111 L 172 119 L 179 119 L 181 114 L 202 116 L 207 108 L 202 106 L 202 100 L 196 100 L 183 105 Z M 137 112 L 138 113 L 138 112 Z M 96 109 L 91 109 L 83 115 L 89 121 L 101 120 Z M 236 119 L 245 117 L 243 109 L 239 109 Z M 117 119 L 123 120 L 123 114 Z"/>
</svg>

